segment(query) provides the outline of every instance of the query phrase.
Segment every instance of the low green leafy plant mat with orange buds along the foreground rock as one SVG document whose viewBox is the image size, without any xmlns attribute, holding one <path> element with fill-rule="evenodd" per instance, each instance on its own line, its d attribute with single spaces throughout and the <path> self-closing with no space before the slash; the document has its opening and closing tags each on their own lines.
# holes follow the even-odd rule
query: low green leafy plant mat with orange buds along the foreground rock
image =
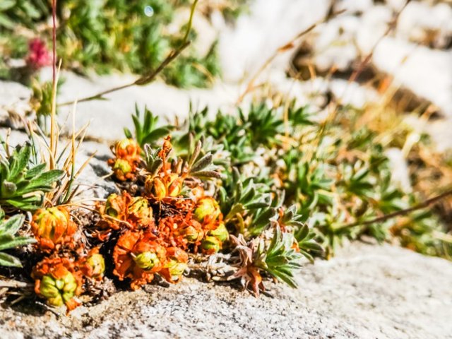
<svg viewBox="0 0 452 339">
<path fill-rule="evenodd" d="M 337 244 L 363 235 L 450 255 L 450 237 L 432 212 L 397 215 L 417 194 L 392 182 L 376 133 L 356 128 L 359 114 L 340 114 L 319 124 L 293 102 L 261 104 L 214 119 L 204 109 L 162 126 L 137 108 L 134 131 L 125 129 L 108 160 L 121 193 L 98 202 L 85 222 L 71 206 L 64 171 L 35 165 L 30 145 L 6 149 L 0 264 L 25 259 L 20 276 L 35 281 L 36 294 L 71 310 L 109 295 L 112 282 L 132 290 L 156 276 L 177 283 L 207 261 L 222 261 L 230 270 L 218 278 L 254 295 L 268 277 L 295 287 L 304 261 L 328 258 Z M 20 210 L 33 212 L 30 227 Z"/>
</svg>

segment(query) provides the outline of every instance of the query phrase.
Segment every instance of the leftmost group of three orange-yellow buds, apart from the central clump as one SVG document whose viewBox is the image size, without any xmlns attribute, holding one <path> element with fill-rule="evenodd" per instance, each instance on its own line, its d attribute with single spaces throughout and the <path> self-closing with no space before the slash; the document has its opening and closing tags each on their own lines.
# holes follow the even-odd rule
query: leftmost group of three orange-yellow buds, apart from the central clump
<svg viewBox="0 0 452 339">
<path fill-rule="evenodd" d="M 102 280 L 104 257 L 98 248 L 85 254 L 80 238 L 75 237 L 78 226 L 65 206 L 37 210 L 31 228 L 37 249 L 47 256 L 32 270 L 35 292 L 49 305 L 64 304 L 71 311 L 80 304 L 76 297 L 83 291 L 84 279 Z"/>
</svg>

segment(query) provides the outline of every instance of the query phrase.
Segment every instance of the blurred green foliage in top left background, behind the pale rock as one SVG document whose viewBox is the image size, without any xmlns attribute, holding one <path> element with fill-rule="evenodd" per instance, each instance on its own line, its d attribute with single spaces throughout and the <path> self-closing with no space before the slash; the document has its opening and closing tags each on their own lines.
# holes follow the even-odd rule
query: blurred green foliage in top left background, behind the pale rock
<svg viewBox="0 0 452 339">
<path fill-rule="evenodd" d="M 234 1 L 220 10 L 229 15 L 242 8 L 245 2 Z M 174 30 L 184 30 L 177 27 L 178 16 L 188 11 L 190 5 L 186 0 L 59 0 L 57 54 L 64 68 L 81 73 L 89 69 L 98 73 L 117 69 L 140 74 L 155 69 L 182 41 L 181 37 L 174 37 L 168 27 L 173 25 Z M 208 8 L 205 9 L 208 15 Z M 0 76 L 17 78 L 8 68 L 10 58 L 26 60 L 25 69 L 20 73 L 30 74 L 33 69 L 49 64 L 44 47 L 45 42 L 48 45 L 52 42 L 52 27 L 48 24 L 51 15 L 50 1 L 1 1 Z M 195 39 L 196 35 L 192 31 L 190 39 Z M 218 73 L 213 44 L 206 55 L 198 55 L 195 48 L 190 48 L 165 68 L 162 77 L 178 87 L 205 87 Z"/>
</svg>

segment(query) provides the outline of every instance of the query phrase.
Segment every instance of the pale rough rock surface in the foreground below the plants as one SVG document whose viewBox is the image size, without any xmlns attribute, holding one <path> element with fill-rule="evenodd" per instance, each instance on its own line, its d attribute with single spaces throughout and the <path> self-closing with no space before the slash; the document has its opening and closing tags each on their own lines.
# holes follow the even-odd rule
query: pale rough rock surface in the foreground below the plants
<svg viewBox="0 0 452 339">
<path fill-rule="evenodd" d="M 390 245 L 355 243 L 258 299 L 186 278 L 119 292 L 70 316 L 20 305 L 0 310 L 16 338 L 452 338 L 452 264 Z"/>
</svg>

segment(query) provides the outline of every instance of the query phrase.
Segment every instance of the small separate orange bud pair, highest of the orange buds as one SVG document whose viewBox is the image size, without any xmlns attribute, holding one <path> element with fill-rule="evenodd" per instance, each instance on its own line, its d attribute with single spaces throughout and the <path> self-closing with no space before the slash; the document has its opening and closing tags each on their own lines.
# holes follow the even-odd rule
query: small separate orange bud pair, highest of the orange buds
<svg viewBox="0 0 452 339">
<path fill-rule="evenodd" d="M 134 180 L 136 169 L 141 162 L 140 145 L 133 139 L 125 138 L 114 145 L 114 159 L 108 160 L 114 176 L 121 182 Z"/>
</svg>

